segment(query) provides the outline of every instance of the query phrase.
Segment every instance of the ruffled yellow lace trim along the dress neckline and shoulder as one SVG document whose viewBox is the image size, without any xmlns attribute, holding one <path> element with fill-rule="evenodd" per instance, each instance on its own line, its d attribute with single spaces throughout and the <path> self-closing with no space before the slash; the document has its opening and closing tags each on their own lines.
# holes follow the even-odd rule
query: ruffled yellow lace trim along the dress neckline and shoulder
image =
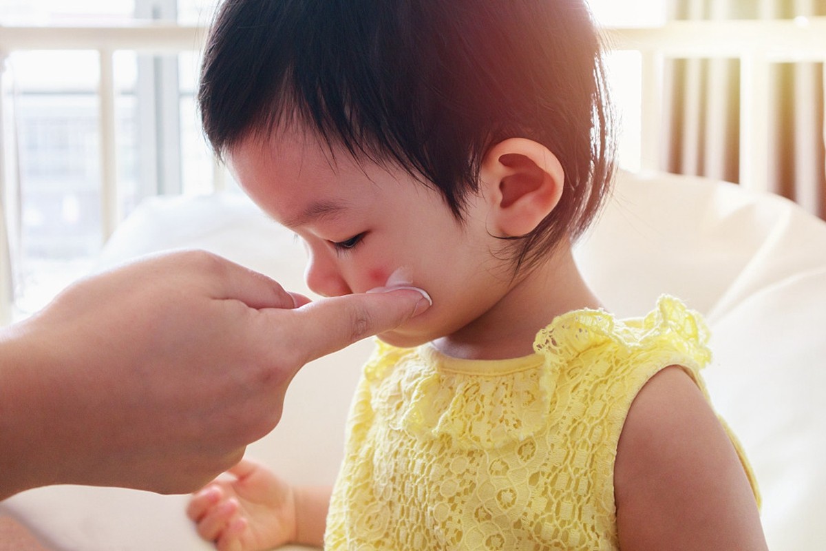
<svg viewBox="0 0 826 551">
<path fill-rule="evenodd" d="M 611 365 L 612 358 L 627 358 L 637 351 L 641 362 L 676 358 L 695 373 L 710 360 L 708 335 L 700 317 L 682 302 L 661 297 L 642 320 L 617 321 L 595 310 L 558 316 L 539 331 L 534 341 L 537 354 L 503 360 L 504 366 L 495 371 L 485 365 L 491 362 L 440 356 L 428 345 L 395 349 L 380 343 L 374 358 L 383 361 L 368 362 L 365 378 L 387 378 L 375 385 L 380 394 L 373 405 L 383 410 L 392 429 L 425 439 L 449 438 L 460 449 L 492 449 L 544 428 L 560 374 L 582 354 L 595 354 L 593 362 Z M 396 358 L 388 361 L 387 354 Z M 389 373 L 382 368 L 394 363 Z M 439 368 L 440 363 L 451 368 Z M 467 368 L 456 369 L 457 365 Z"/>
</svg>

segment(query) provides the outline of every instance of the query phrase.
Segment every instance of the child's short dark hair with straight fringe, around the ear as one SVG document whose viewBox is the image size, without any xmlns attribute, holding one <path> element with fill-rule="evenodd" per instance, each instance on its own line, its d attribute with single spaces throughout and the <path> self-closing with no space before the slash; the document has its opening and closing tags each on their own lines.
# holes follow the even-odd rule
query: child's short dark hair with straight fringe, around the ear
<svg viewBox="0 0 826 551">
<path fill-rule="evenodd" d="M 614 173 L 601 45 L 582 0 L 225 0 L 198 102 L 219 156 L 298 117 L 330 147 L 400 164 L 460 220 L 491 145 L 545 145 L 565 191 L 521 238 L 517 267 L 580 235 Z"/>
</svg>

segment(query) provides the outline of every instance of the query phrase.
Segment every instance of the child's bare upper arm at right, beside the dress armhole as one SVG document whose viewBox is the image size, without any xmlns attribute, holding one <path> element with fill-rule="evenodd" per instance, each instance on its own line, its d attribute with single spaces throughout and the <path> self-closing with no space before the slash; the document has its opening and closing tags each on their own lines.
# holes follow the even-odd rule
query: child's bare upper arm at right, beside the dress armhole
<svg viewBox="0 0 826 551">
<path fill-rule="evenodd" d="M 634 400 L 614 480 L 621 549 L 767 549 L 729 435 L 678 366 Z"/>
</svg>

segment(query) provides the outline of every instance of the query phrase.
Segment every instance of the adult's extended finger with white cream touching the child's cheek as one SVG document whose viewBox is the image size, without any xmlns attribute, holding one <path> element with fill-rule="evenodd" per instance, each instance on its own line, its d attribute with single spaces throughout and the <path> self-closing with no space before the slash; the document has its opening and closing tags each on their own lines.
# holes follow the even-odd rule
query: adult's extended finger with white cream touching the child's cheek
<svg viewBox="0 0 826 551">
<path fill-rule="evenodd" d="M 304 363 L 371 335 L 395 329 L 430 307 L 413 287 L 323 298 L 289 311 L 294 342 L 306 344 Z"/>
</svg>

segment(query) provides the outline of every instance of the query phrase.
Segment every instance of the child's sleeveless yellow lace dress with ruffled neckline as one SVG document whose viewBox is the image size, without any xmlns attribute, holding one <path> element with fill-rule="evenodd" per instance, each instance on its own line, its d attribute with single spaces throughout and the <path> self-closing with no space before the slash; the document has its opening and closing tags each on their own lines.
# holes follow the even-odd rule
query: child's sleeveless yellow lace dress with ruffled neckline
<svg viewBox="0 0 826 551">
<path fill-rule="evenodd" d="M 618 549 L 625 416 L 669 365 L 705 393 L 706 340 L 698 315 L 662 297 L 640 320 L 559 316 L 524 358 L 379 343 L 350 412 L 325 549 Z"/>
</svg>

